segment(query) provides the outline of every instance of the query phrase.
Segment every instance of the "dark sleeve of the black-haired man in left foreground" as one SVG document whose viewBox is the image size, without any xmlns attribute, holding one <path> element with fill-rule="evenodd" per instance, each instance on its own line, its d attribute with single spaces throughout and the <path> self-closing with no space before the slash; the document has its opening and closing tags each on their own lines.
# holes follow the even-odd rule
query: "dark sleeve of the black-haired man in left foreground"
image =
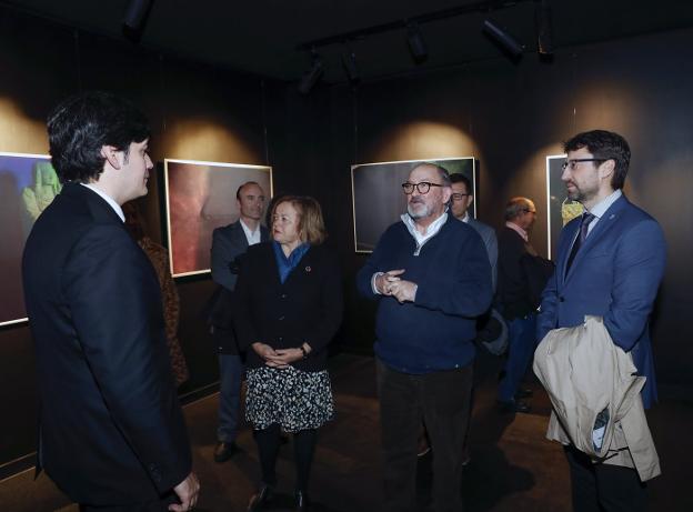
<svg viewBox="0 0 693 512">
<path fill-rule="evenodd" d="M 101 224 L 72 248 L 62 283 L 112 420 L 164 493 L 185 479 L 192 463 L 153 269 L 125 230 Z"/>
</svg>

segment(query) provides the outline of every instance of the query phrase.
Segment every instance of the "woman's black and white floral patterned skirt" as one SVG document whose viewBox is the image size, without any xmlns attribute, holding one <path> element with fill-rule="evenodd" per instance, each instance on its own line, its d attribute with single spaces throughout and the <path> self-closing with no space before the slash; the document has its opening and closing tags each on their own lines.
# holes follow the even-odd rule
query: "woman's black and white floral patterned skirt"
<svg viewBox="0 0 693 512">
<path fill-rule="evenodd" d="M 327 370 L 261 367 L 247 371 L 245 420 L 255 430 L 279 423 L 284 432 L 318 429 L 334 418 Z"/>
</svg>

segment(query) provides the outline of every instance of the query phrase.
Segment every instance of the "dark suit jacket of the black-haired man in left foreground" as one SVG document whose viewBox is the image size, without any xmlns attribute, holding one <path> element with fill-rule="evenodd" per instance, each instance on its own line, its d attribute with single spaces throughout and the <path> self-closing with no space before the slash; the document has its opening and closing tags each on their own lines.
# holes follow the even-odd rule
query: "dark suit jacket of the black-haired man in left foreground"
<svg viewBox="0 0 693 512">
<path fill-rule="evenodd" d="M 23 255 L 38 465 L 72 500 L 155 500 L 191 471 L 154 269 L 113 209 L 68 183 Z"/>
</svg>

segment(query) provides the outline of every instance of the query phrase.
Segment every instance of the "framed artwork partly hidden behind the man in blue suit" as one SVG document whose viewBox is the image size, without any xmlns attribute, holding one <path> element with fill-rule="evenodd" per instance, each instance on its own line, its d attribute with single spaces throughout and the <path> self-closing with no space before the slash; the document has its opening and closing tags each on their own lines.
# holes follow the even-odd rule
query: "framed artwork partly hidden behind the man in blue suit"
<svg viewBox="0 0 693 512">
<path fill-rule="evenodd" d="M 561 230 L 575 217 L 581 215 L 583 210 L 578 201 L 568 199 L 565 183 L 561 181 L 565 158 L 565 154 L 546 157 L 546 211 L 549 212 L 546 253 L 550 260 L 555 258 Z"/>
</svg>

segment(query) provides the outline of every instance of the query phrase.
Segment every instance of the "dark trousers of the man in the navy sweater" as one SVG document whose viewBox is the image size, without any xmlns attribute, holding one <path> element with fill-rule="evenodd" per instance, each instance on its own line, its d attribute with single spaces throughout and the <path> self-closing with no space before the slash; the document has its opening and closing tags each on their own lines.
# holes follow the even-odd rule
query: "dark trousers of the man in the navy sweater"
<svg viewBox="0 0 693 512">
<path fill-rule="evenodd" d="M 378 363 L 385 510 L 416 510 L 416 438 L 423 420 L 433 452 L 435 512 L 463 510 L 462 462 L 472 364 L 413 375 Z"/>
</svg>

